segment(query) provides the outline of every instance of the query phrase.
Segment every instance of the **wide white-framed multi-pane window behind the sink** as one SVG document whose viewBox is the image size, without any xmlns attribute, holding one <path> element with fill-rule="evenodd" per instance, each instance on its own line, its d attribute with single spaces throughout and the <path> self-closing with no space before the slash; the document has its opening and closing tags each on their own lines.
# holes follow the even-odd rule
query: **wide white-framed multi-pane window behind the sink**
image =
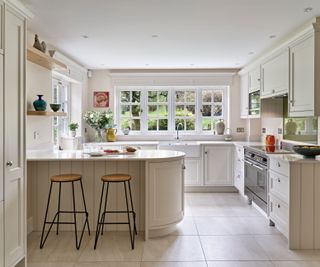
<svg viewBox="0 0 320 267">
<path fill-rule="evenodd" d="M 116 87 L 119 129 L 136 134 L 213 134 L 215 123 L 228 118 L 228 86 Z"/>
</svg>

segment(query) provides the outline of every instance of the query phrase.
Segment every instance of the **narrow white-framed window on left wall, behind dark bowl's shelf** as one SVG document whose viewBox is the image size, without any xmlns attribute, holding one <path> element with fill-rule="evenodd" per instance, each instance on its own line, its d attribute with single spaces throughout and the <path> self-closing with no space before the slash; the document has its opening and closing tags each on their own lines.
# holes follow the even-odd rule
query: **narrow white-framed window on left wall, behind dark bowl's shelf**
<svg viewBox="0 0 320 267">
<path fill-rule="evenodd" d="M 52 137 L 53 143 L 59 145 L 59 139 L 68 134 L 68 125 L 71 117 L 71 92 L 70 83 L 62 80 L 52 79 L 52 102 L 61 104 L 59 111 L 66 112 L 66 117 L 53 117 L 52 119 Z"/>
</svg>

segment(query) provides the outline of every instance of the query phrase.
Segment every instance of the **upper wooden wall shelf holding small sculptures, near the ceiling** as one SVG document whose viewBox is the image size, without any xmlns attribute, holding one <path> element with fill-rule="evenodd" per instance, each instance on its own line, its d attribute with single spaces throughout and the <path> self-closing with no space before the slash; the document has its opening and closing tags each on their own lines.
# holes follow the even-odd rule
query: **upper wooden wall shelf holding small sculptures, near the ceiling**
<svg viewBox="0 0 320 267">
<path fill-rule="evenodd" d="M 67 70 L 67 65 L 33 47 L 28 48 L 27 59 L 48 70 Z"/>
</svg>

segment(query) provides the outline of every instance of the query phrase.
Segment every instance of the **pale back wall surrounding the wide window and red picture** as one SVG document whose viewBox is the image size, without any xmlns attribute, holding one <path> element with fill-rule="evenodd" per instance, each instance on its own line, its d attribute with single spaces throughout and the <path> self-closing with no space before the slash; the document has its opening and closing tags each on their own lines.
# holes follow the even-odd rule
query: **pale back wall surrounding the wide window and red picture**
<svg viewBox="0 0 320 267">
<path fill-rule="evenodd" d="M 147 72 L 147 74 L 146 74 Z M 88 89 L 88 105 L 87 105 L 87 110 L 93 110 L 93 91 L 109 91 L 110 94 L 110 108 L 114 110 L 114 97 L 115 97 L 115 85 L 121 80 L 120 82 L 122 84 L 129 85 L 130 82 L 132 82 L 131 85 L 141 85 L 141 86 L 147 86 L 150 84 L 153 85 L 173 85 L 173 84 L 179 84 L 179 85 L 190 85 L 190 77 L 188 76 L 175 76 L 174 70 L 170 71 L 161 71 L 157 72 L 156 70 L 152 71 L 150 70 L 145 71 L 145 70 L 125 70 L 125 71 L 110 71 L 110 70 L 93 70 L 92 71 L 92 77 L 89 78 L 89 89 Z M 184 73 L 187 73 L 188 70 L 184 70 Z M 189 70 L 190 76 L 197 74 L 194 73 L 192 70 Z M 141 74 L 142 76 L 136 76 L 137 73 Z M 200 81 L 205 81 L 208 82 L 210 79 L 215 79 L 217 82 L 223 80 L 223 77 L 225 73 L 221 72 L 221 77 L 218 75 L 218 71 L 213 70 L 213 71 L 206 71 L 208 74 L 212 74 L 212 77 L 215 76 L 215 78 L 209 77 L 207 80 L 206 78 L 203 77 L 198 77 L 197 79 Z M 125 78 L 121 78 L 121 74 L 125 76 Z M 161 74 L 161 75 L 160 75 Z M 145 76 L 143 76 L 145 75 Z M 154 75 L 154 76 L 153 76 Z M 181 73 L 180 73 L 181 75 Z M 196 76 L 196 75 L 195 75 Z M 230 75 L 229 75 L 230 76 Z M 187 84 L 184 84 L 184 81 L 186 81 Z M 191 82 L 196 85 L 197 81 L 192 80 Z M 199 85 L 199 84 L 197 84 Z M 214 84 L 212 84 L 214 85 Z M 238 75 L 233 75 L 232 76 L 232 82 L 230 85 L 230 112 L 229 112 L 229 123 L 230 123 L 230 128 L 232 130 L 232 134 L 234 136 L 234 139 L 237 140 L 244 140 L 246 133 L 236 133 L 236 128 L 243 127 L 246 128 L 246 120 L 240 119 L 240 79 Z M 100 109 L 101 110 L 101 109 Z M 90 140 L 93 140 L 94 138 L 94 131 L 88 128 L 89 132 L 89 138 Z M 245 129 L 246 132 L 246 129 Z M 147 136 L 129 136 L 129 137 L 124 137 L 121 136 L 119 139 L 122 138 L 130 138 L 130 139 L 138 139 L 138 138 L 144 138 L 148 139 Z M 150 138 L 154 138 L 154 136 L 151 136 Z M 158 138 L 158 137 L 157 137 Z M 168 138 L 163 137 L 163 138 Z M 169 137 L 170 138 L 170 137 Z M 189 138 L 194 138 L 194 136 L 189 137 Z M 207 135 L 205 138 L 207 139 L 212 139 L 213 137 L 210 135 Z M 221 138 L 221 137 L 220 137 Z"/>
</svg>

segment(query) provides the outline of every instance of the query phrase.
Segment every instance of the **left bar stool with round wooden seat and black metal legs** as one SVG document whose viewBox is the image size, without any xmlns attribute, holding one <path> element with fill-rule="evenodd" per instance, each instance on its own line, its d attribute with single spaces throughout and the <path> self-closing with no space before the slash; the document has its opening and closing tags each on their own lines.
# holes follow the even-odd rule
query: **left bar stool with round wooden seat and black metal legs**
<svg viewBox="0 0 320 267">
<path fill-rule="evenodd" d="M 85 198 L 84 198 L 84 191 L 83 191 L 83 185 L 82 185 L 82 179 L 81 178 L 82 177 L 81 177 L 80 174 L 61 174 L 61 175 L 55 175 L 55 176 L 51 176 L 50 177 L 51 184 L 50 184 L 50 190 L 49 190 L 49 196 L 48 196 L 48 202 L 47 202 L 46 215 L 45 215 L 44 222 L 43 222 L 43 228 L 42 228 L 42 234 L 41 234 L 41 240 L 40 240 L 40 248 L 41 249 L 43 248 L 43 246 L 44 246 L 44 244 L 45 244 L 45 242 L 46 242 L 46 240 L 47 240 L 47 238 L 49 236 L 51 228 L 52 228 L 52 226 L 54 224 L 57 225 L 56 234 L 59 233 L 59 225 L 60 224 L 74 224 L 74 231 L 75 231 L 75 236 L 76 236 L 76 248 L 77 249 L 80 248 L 82 237 L 83 237 L 86 225 L 88 227 L 88 232 L 89 232 L 89 235 L 90 235 L 90 228 L 89 228 L 89 221 L 88 221 L 89 214 L 88 214 L 88 211 L 87 211 L 86 201 L 85 201 Z M 75 194 L 74 194 L 74 182 L 78 182 L 78 181 L 80 182 L 84 211 L 77 211 L 76 210 L 76 201 L 75 201 Z M 47 221 L 53 183 L 59 183 L 58 211 L 54 215 L 53 221 Z M 62 210 L 60 210 L 61 184 L 62 183 L 71 183 L 71 186 L 72 186 L 73 210 L 71 210 L 71 211 L 62 211 Z M 60 214 L 61 213 L 65 213 L 65 214 L 72 213 L 73 214 L 73 222 L 60 222 Z M 82 228 L 82 232 L 81 232 L 81 236 L 80 236 L 79 242 L 78 242 L 78 230 L 77 230 L 77 214 L 85 214 L 86 215 L 86 220 L 85 220 L 85 223 L 84 223 L 83 228 Z M 56 219 L 57 219 L 57 221 L 56 221 Z M 50 227 L 48 229 L 48 232 L 47 232 L 46 236 L 44 236 L 46 224 L 50 224 Z"/>
</svg>

